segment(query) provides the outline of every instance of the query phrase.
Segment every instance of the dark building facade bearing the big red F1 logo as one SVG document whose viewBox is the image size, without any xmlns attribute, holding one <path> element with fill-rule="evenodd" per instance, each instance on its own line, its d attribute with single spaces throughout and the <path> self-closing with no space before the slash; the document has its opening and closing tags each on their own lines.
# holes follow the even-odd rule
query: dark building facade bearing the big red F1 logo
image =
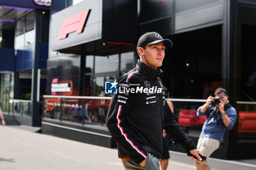
<svg viewBox="0 0 256 170">
<path fill-rule="evenodd" d="M 157 31 L 174 44 L 165 55 L 161 78 L 174 102 L 177 121 L 181 110 L 195 110 L 203 104 L 202 99 L 214 95 L 215 89 L 226 88 L 238 120 L 214 156 L 252 158 L 255 149 L 245 148 L 255 148 L 256 137 L 255 26 L 256 3 L 252 0 L 81 1 L 50 16 L 46 103 L 53 100 L 50 96 L 106 96 L 105 82 L 116 80 L 135 66 L 138 37 Z M 89 113 L 93 116 L 87 123 L 99 117 L 101 105 L 95 111 L 86 105 L 91 98 L 83 99 L 54 101 L 55 106 L 61 106 L 56 112 L 61 112 L 61 117 L 66 114 L 66 122 L 58 114 L 50 116 L 48 112 L 53 109 L 46 106 L 45 132 L 54 125 L 78 127 L 76 123 L 84 129 L 82 120 L 72 119 L 80 105 L 83 118 Z M 67 106 L 64 100 L 69 102 L 69 109 L 62 110 Z M 103 103 L 105 106 L 107 102 Z M 200 131 L 201 125 L 189 128 Z M 197 140 L 197 133 L 188 133 Z"/>
</svg>

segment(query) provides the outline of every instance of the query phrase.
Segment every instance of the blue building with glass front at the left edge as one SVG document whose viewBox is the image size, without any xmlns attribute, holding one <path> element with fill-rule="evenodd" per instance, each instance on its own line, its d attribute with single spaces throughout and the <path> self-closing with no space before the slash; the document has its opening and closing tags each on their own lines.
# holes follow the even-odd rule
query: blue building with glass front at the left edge
<svg viewBox="0 0 256 170">
<path fill-rule="evenodd" d="M 45 94 L 50 1 L 1 1 L 1 108 L 28 125 L 40 125 Z"/>
</svg>

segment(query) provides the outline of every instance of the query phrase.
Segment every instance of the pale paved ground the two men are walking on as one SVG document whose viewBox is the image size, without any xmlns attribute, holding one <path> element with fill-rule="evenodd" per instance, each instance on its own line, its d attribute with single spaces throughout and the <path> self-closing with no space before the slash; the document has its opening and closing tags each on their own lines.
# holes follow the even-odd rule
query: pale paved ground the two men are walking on
<svg viewBox="0 0 256 170">
<path fill-rule="evenodd" d="M 0 167 L 3 170 L 117 170 L 124 169 L 116 149 L 38 134 L 23 125 L 0 127 Z M 170 152 L 168 170 L 195 169 L 184 153 Z M 210 158 L 213 170 L 256 169 L 256 160 L 222 161 Z"/>
</svg>

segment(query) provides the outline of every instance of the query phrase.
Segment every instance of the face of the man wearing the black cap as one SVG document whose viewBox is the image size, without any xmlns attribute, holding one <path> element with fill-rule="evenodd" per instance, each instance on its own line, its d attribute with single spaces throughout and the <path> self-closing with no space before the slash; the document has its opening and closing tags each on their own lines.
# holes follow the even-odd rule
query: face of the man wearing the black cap
<svg viewBox="0 0 256 170">
<path fill-rule="evenodd" d="M 153 69 L 157 69 L 162 66 L 162 61 L 165 58 L 165 44 L 159 42 L 156 45 L 146 45 L 146 48 L 139 47 L 140 61 L 151 66 Z"/>
</svg>

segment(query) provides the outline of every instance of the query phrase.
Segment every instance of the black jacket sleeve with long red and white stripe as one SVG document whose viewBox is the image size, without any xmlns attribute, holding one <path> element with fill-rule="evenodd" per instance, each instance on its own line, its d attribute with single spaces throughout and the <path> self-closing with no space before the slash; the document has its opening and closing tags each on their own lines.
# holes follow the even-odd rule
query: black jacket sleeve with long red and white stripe
<svg viewBox="0 0 256 170">
<path fill-rule="evenodd" d="M 146 151 L 138 147 L 135 136 L 132 135 L 129 125 L 125 123 L 126 116 L 131 108 L 132 94 L 120 90 L 119 85 L 121 84 L 125 85 L 125 81 L 118 82 L 118 93 L 113 96 L 108 110 L 107 127 L 118 147 L 121 147 L 133 161 L 141 163 L 146 159 Z M 127 86 L 125 87 L 127 88 Z"/>
</svg>

